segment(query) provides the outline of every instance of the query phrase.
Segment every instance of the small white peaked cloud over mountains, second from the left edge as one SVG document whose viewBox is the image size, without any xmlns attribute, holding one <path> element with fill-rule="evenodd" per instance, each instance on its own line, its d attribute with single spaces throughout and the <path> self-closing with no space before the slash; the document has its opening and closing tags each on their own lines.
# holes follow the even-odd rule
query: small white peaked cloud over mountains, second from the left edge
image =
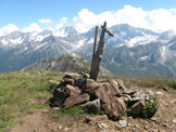
<svg viewBox="0 0 176 132">
<path fill-rule="evenodd" d="M 40 32 L 40 31 L 42 31 L 42 29 L 36 23 L 33 23 L 28 27 L 23 28 L 22 31 L 24 31 L 24 32 L 33 32 L 33 31 Z"/>
</svg>

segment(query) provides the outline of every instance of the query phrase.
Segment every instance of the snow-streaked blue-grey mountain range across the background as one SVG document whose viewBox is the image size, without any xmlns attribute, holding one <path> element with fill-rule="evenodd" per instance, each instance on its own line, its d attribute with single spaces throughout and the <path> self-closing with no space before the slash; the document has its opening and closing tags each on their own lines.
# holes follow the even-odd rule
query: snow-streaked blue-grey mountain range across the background
<svg viewBox="0 0 176 132">
<path fill-rule="evenodd" d="M 176 34 L 154 32 L 127 24 L 109 28 L 101 65 L 118 76 L 176 78 Z M 100 36 L 99 28 L 99 36 Z M 95 28 L 79 34 L 72 26 L 52 31 L 14 31 L 0 37 L 0 72 L 20 70 L 43 58 L 76 53 L 91 61 Z"/>
</svg>

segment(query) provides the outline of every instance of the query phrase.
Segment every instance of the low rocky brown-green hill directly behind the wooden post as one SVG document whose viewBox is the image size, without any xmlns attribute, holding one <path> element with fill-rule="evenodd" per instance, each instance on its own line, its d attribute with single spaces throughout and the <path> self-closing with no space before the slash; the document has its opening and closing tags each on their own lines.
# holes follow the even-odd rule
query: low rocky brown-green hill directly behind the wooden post
<svg viewBox="0 0 176 132">
<path fill-rule="evenodd" d="M 77 54 L 65 54 L 59 57 L 39 61 L 33 65 L 25 67 L 23 70 L 51 70 L 51 71 L 79 71 L 89 72 L 90 64 Z M 112 74 L 100 68 L 101 76 L 111 76 Z"/>
</svg>

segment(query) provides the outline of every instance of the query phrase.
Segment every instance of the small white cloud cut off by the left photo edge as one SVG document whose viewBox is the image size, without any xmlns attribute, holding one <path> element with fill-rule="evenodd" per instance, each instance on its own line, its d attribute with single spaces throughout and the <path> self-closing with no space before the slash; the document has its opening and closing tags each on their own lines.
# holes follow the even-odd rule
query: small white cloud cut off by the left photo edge
<svg viewBox="0 0 176 132">
<path fill-rule="evenodd" d="M 0 36 L 4 36 L 8 34 L 11 34 L 13 31 L 18 31 L 18 27 L 13 24 L 9 24 L 9 25 L 0 28 Z"/>
</svg>

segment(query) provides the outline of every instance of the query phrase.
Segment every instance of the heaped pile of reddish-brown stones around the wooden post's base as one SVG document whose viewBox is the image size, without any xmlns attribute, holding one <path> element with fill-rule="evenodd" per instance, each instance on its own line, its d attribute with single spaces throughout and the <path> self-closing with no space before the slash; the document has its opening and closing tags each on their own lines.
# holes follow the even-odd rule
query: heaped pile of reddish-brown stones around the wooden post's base
<svg viewBox="0 0 176 132">
<path fill-rule="evenodd" d="M 53 90 L 52 106 L 67 108 L 80 105 L 91 107 L 95 111 L 103 109 L 110 119 L 117 120 L 127 106 L 131 111 L 139 113 L 149 95 L 127 91 L 120 79 L 95 81 L 87 74 L 65 72 Z"/>
</svg>

